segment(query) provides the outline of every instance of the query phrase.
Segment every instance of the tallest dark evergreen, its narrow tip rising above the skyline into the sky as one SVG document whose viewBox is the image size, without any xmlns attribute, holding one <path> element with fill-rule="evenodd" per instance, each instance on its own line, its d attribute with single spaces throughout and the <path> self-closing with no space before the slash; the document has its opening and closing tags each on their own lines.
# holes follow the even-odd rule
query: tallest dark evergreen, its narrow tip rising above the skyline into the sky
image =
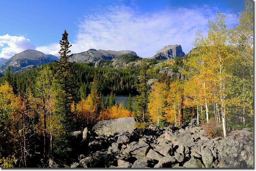
<svg viewBox="0 0 256 171">
<path fill-rule="evenodd" d="M 70 55 L 68 42 L 68 33 L 64 30 L 62 39 L 60 40 L 60 60 L 54 61 L 56 65 L 55 87 L 56 87 L 56 103 L 55 115 L 60 116 L 63 123 L 64 133 L 58 135 L 54 142 L 54 152 L 60 157 L 65 157 L 71 152 L 70 142 L 68 141 L 69 132 L 74 129 L 75 115 L 71 112 L 71 104 L 76 98 L 75 74 L 71 71 L 72 63 L 68 62 Z"/>
</svg>

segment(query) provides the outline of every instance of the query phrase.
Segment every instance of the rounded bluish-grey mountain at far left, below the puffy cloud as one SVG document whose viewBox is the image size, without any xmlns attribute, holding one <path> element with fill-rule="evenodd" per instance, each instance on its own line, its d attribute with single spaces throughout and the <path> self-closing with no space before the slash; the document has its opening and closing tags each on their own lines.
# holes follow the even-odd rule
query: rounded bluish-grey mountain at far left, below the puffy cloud
<svg viewBox="0 0 256 171">
<path fill-rule="evenodd" d="M 51 63 L 54 62 L 54 60 L 58 60 L 54 55 L 45 55 L 40 51 L 27 49 L 7 59 L 4 64 L 0 66 L 0 73 L 5 73 L 8 66 L 11 67 L 11 71 L 14 73 L 19 72 L 22 68 L 24 68 L 23 71 L 27 71 L 29 68 Z"/>
</svg>

